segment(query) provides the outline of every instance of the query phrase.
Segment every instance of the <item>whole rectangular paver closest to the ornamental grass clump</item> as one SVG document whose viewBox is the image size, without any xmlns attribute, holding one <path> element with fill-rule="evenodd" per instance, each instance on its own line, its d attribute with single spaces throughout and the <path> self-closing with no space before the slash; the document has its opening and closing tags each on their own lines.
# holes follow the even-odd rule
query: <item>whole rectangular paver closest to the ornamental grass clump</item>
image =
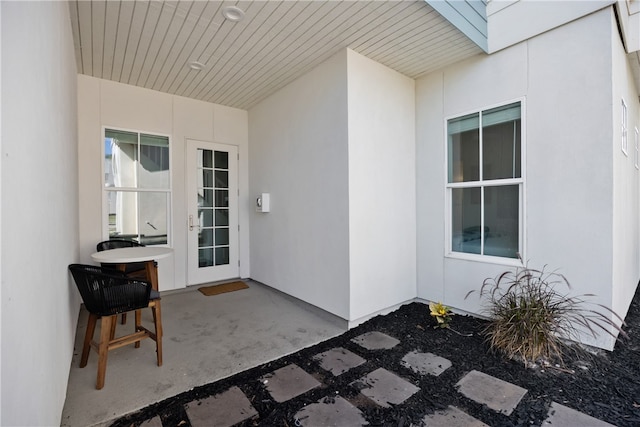
<svg viewBox="0 0 640 427">
<path fill-rule="evenodd" d="M 527 390 L 483 372 L 471 371 L 456 384 L 458 391 L 494 411 L 511 415 Z"/>
</svg>

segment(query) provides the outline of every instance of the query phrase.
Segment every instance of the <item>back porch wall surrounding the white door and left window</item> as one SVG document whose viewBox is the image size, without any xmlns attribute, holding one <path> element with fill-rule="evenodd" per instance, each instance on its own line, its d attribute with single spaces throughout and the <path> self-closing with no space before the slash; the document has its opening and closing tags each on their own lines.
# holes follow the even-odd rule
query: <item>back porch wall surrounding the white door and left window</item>
<svg viewBox="0 0 640 427">
<path fill-rule="evenodd" d="M 102 128 L 113 127 L 170 136 L 174 254 L 158 261 L 160 290 L 187 286 L 187 139 L 238 146 L 241 277 L 249 276 L 247 112 L 121 83 L 78 76 L 80 253 L 91 263 L 97 242 L 107 238 L 102 209 Z"/>
</svg>

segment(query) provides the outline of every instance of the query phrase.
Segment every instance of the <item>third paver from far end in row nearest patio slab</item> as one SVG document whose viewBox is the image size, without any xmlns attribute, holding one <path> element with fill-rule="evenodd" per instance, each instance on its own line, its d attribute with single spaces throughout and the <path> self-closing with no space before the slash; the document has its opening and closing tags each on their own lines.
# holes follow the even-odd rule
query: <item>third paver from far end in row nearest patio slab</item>
<svg viewBox="0 0 640 427">
<path fill-rule="evenodd" d="M 318 380 L 293 363 L 276 369 L 260 381 L 276 402 L 285 402 L 320 386 Z"/>
</svg>

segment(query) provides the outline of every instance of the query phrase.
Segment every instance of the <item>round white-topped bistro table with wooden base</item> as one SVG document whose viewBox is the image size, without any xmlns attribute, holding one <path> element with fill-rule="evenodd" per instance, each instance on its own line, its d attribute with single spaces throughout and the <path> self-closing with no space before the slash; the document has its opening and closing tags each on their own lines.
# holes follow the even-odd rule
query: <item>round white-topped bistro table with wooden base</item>
<svg viewBox="0 0 640 427">
<path fill-rule="evenodd" d="M 132 262 L 144 262 L 147 272 L 147 280 L 151 282 L 151 287 L 158 290 L 158 268 L 155 261 L 166 258 L 173 253 L 173 249 L 159 246 L 136 246 L 132 248 L 108 249 L 106 251 L 94 252 L 91 259 L 101 264 L 117 264 L 122 266 Z"/>
</svg>

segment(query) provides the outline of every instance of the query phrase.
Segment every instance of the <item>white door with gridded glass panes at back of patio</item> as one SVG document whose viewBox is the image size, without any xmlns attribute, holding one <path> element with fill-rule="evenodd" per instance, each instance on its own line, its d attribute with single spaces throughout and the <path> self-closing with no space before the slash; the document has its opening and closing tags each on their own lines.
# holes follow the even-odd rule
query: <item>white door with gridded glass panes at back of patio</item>
<svg viewBox="0 0 640 427">
<path fill-rule="evenodd" d="M 190 285 L 239 277 L 238 147 L 187 140 Z"/>
</svg>

